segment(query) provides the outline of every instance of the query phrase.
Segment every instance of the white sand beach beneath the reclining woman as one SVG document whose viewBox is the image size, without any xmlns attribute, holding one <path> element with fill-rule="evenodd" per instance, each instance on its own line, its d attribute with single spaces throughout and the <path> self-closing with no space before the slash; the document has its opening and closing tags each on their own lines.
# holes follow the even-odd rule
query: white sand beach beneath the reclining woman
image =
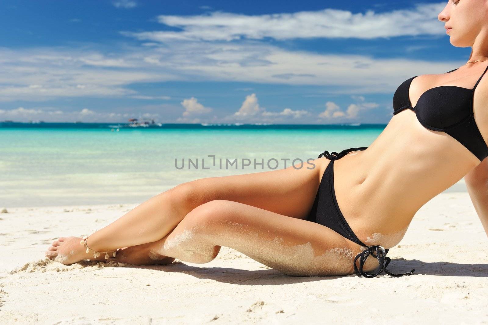
<svg viewBox="0 0 488 325">
<path fill-rule="evenodd" d="M 418 212 L 389 269 L 412 276 L 290 277 L 223 247 L 208 264 L 44 258 L 136 205 L 9 208 L 0 218 L 0 324 L 488 324 L 488 238 L 466 192 Z"/>
</svg>

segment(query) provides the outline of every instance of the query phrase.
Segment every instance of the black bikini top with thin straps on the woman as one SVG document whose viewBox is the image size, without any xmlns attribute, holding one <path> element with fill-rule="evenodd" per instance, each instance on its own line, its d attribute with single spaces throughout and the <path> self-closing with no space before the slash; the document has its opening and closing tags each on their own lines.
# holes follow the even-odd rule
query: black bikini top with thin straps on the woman
<svg viewBox="0 0 488 325">
<path fill-rule="evenodd" d="M 406 108 L 413 110 L 420 124 L 429 130 L 446 132 L 461 142 L 481 162 L 488 156 L 488 146 L 474 121 L 473 95 L 487 70 L 488 66 L 473 89 L 450 85 L 427 89 L 419 97 L 415 107 L 412 107 L 408 93 L 410 83 L 418 76 L 407 79 L 393 95 L 393 115 Z"/>
</svg>

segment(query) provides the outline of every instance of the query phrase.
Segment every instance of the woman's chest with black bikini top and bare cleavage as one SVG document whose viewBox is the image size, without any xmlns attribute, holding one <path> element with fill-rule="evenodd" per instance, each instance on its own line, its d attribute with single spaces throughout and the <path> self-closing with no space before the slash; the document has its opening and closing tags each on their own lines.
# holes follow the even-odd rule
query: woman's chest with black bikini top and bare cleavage
<svg viewBox="0 0 488 325">
<path fill-rule="evenodd" d="M 446 85 L 429 80 L 430 75 L 409 78 L 395 91 L 393 114 L 414 111 L 424 127 L 445 132 L 483 160 L 488 156 L 488 81 L 481 77 L 473 88 L 461 86 L 460 79 L 450 81 L 459 85 Z"/>
</svg>

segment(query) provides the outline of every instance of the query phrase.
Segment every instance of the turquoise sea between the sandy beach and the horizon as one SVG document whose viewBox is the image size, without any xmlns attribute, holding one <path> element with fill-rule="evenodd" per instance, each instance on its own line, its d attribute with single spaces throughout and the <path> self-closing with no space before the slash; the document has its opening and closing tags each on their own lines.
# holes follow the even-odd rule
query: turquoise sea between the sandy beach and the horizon
<svg viewBox="0 0 488 325">
<path fill-rule="evenodd" d="M 142 203 L 194 179 L 285 168 L 283 159 L 290 166 L 324 150 L 368 146 L 386 126 L 115 125 L 0 122 L 0 207 Z M 226 165 L 227 159 L 237 161 Z M 255 168 L 254 159 L 264 165 Z"/>
</svg>

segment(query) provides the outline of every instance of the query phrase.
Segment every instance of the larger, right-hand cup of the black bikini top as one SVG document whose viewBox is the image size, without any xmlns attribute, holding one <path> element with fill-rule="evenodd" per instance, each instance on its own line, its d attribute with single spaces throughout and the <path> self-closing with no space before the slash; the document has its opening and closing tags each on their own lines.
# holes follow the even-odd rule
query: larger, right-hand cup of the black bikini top
<svg viewBox="0 0 488 325">
<path fill-rule="evenodd" d="M 439 86 L 422 94 L 412 109 L 423 125 L 446 130 L 465 121 L 471 114 L 470 107 L 471 89 Z"/>
</svg>

